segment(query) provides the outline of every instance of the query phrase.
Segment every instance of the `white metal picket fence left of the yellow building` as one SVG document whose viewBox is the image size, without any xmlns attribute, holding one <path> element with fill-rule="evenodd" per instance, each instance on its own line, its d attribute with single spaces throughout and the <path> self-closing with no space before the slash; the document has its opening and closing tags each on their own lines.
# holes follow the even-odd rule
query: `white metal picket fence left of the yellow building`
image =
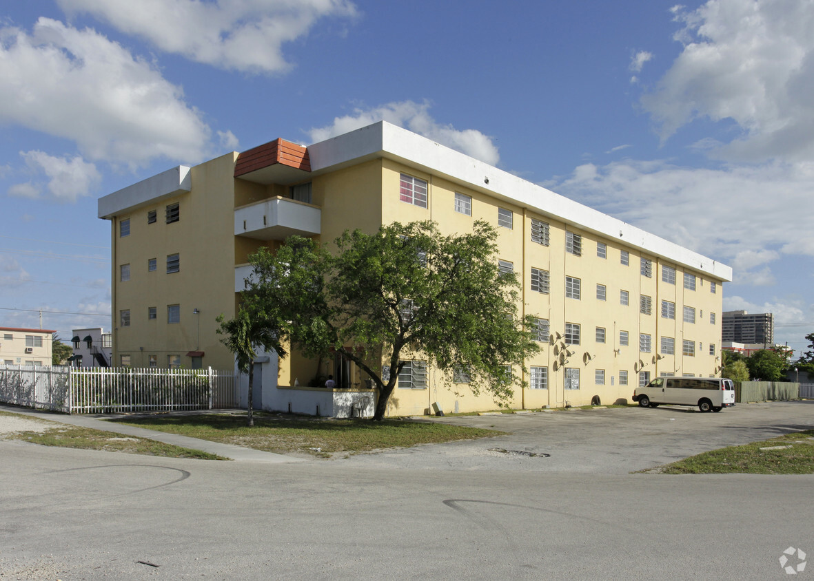
<svg viewBox="0 0 814 581">
<path fill-rule="evenodd" d="M 0 401 L 68 414 L 211 410 L 239 405 L 231 371 L 0 366 Z"/>
</svg>

